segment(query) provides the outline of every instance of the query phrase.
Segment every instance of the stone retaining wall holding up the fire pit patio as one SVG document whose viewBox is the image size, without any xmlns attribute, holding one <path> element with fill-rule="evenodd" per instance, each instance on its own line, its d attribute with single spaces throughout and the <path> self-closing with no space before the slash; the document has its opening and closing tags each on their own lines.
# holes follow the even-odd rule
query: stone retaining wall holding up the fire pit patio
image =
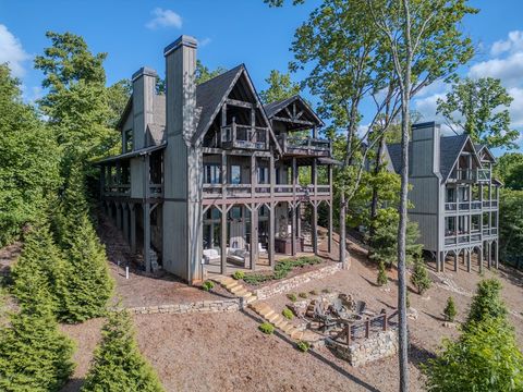
<svg viewBox="0 0 523 392">
<path fill-rule="evenodd" d="M 326 344 L 341 358 L 357 367 L 398 353 L 398 330 L 390 329 L 379 332 L 368 339 L 352 343 L 350 346 L 340 344 L 330 339 Z"/>
</svg>

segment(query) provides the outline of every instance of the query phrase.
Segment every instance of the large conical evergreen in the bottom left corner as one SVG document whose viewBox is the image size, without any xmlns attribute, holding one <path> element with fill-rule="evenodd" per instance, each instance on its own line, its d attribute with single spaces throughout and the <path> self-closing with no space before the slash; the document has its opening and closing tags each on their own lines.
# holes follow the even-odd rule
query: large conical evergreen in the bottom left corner
<svg viewBox="0 0 523 392">
<path fill-rule="evenodd" d="M 74 368 L 73 343 L 58 328 L 44 275 L 24 282 L 26 299 L 0 333 L 0 390 L 59 391 Z"/>
</svg>

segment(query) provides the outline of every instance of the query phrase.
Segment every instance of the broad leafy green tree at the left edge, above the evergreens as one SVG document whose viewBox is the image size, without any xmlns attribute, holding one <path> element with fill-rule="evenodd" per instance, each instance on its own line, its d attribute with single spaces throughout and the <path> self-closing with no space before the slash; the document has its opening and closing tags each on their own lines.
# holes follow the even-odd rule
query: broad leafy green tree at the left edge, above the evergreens
<svg viewBox="0 0 523 392">
<path fill-rule="evenodd" d="M 41 220 L 61 184 L 50 128 L 22 101 L 20 81 L 0 64 L 0 247 Z"/>
</svg>

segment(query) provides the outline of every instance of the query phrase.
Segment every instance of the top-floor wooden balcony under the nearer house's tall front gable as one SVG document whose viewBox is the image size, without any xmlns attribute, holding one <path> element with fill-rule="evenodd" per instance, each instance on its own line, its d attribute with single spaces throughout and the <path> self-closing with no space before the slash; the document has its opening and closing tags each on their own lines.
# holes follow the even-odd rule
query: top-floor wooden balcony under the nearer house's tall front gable
<svg viewBox="0 0 523 392">
<path fill-rule="evenodd" d="M 253 150 L 269 149 L 269 128 L 250 125 L 231 125 L 221 127 L 221 147 Z"/>
</svg>

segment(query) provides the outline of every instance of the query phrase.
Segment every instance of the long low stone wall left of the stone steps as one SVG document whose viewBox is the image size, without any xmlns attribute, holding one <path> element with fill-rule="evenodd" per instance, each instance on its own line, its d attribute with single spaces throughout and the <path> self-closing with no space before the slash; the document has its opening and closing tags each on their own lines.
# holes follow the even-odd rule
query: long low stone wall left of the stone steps
<svg viewBox="0 0 523 392">
<path fill-rule="evenodd" d="M 159 305 L 127 308 L 136 315 L 170 314 L 183 315 L 194 313 L 233 313 L 243 308 L 242 298 L 198 301 L 191 304 Z"/>
</svg>

